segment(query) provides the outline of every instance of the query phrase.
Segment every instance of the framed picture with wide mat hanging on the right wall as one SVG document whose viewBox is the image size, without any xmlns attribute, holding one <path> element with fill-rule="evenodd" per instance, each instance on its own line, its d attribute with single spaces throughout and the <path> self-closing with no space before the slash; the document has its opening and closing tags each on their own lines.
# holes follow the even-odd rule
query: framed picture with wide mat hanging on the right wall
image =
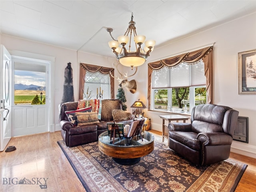
<svg viewBox="0 0 256 192">
<path fill-rule="evenodd" d="M 256 94 L 256 49 L 238 53 L 239 94 Z"/>
</svg>

